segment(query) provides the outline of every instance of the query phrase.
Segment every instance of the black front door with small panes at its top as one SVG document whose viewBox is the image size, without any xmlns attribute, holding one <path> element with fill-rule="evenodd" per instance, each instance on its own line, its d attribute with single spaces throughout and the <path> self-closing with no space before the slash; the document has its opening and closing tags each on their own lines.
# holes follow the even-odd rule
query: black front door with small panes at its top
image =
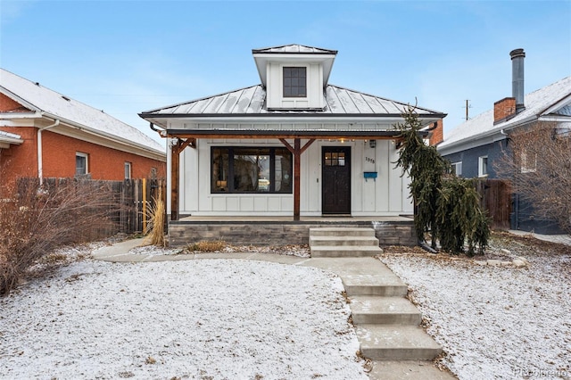
<svg viewBox="0 0 571 380">
<path fill-rule="evenodd" d="M 351 214 L 351 147 L 324 146 L 321 156 L 321 212 Z"/>
</svg>

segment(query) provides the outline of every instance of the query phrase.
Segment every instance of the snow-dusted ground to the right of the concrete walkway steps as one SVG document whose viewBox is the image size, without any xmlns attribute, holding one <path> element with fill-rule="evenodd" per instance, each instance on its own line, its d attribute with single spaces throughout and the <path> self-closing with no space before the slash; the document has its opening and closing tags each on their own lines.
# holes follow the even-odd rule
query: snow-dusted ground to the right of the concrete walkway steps
<svg viewBox="0 0 571 380">
<path fill-rule="evenodd" d="M 409 285 L 460 379 L 559 379 L 571 377 L 571 248 L 553 247 L 492 243 L 491 257 L 523 255 L 528 268 L 402 249 L 381 260 Z"/>
</svg>

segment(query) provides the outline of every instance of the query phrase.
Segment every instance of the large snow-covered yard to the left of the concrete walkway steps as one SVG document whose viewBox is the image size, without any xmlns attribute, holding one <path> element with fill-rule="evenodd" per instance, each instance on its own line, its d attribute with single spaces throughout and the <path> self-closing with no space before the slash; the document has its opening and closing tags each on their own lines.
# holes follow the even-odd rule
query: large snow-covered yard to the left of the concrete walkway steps
<svg viewBox="0 0 571 380">
<path fill-rule="evenodd" d="M 252 260 L 73 261 L 0 299 L 0 378 L 367 378 L 342 290 Z"/>
</svg>

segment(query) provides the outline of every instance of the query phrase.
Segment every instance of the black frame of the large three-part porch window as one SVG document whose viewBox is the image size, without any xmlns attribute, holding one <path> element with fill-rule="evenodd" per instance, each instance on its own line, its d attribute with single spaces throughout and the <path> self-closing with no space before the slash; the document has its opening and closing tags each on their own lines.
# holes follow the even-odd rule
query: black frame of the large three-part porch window
<svg viewBox="0 0 571 380">
<path fill-rule="evenodd" d="M 224 149 L 228 150 L 228 178 L 225 180 L 224 178 L 216 179 L 214 178 L 214 150 L 216 149 Z M 269 190 L 268 191 L 236 191 L 234 189 L 234 157 L 235 149 L 258 149 L 258 150 L 268 150 L 268 154 L 261 154 L 261 155 L 269 155 Z M 285 174 L 289 178 L 289 186 L 287 186 L 286 190 L 279 190 L 276 191 L 274 186 L 276 183 L 276 151 L 284 151 L 288 154 L 289 157 L 289 168 L 286 168 L 289 174 Z M 211 180 L 211 194 L 260 194 L 260 195 L 267 195 L 267 194 L 293 194 L 294 193 L 294 155 L 287 150 L 284 146 L 248 146 L 248 145 L 231 145 L 231 146 L 211 146 L 211 173 L 210 173 L 210 180 Z M 260 178 L 258 179 L 260 181 Z M 217 187 L 217 183 L 224 183 L 226 190 L 221 190 L 222 187 Z M 260 182 L 258 182 L 260 184 Z M 287 184 L 286 184 L 287 185 Z"/>
</svg>

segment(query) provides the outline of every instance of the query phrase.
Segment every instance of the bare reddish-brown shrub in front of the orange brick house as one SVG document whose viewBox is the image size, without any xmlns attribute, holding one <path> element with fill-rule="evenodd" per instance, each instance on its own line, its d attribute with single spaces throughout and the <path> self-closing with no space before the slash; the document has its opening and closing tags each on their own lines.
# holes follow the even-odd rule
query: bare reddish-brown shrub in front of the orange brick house
<svg viewBox="0 0 571 380">
<path fill-rule="evenodd" d="M 22 179 L 1 189 L 0 294 L 24 277 L 26 269 L 48 252 L 90 240 L 98 229 L 111 227 L 117 209 L 104 182 L 61 179 L 39 186 Z"/>
</svg>

